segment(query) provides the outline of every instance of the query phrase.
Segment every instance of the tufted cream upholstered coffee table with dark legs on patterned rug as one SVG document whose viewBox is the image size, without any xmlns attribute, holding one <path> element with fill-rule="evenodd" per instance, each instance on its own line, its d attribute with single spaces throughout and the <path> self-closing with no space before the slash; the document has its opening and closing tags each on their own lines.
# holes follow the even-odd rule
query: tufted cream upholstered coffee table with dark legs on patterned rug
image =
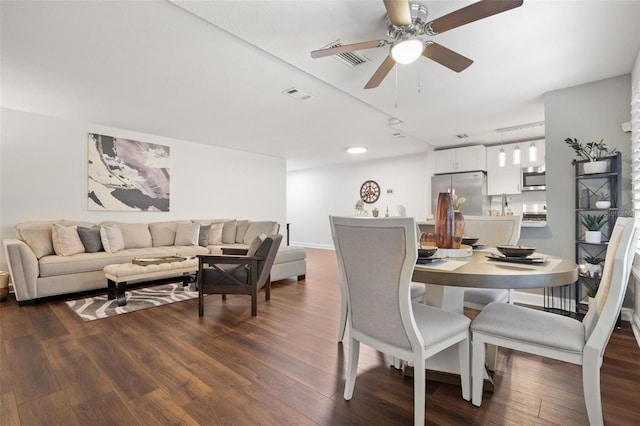
<svg viewBox="0 0 640 426">
<path fill-rule="evenodd" d="M 183 286 L 188 286 L 196 281 L 198 272 L 197 258 L 153 258 L 134 259 L 129 263 L 118 263 L 104 267 L 104 276 L 107 279 L 108 299 L 117 299 L 118 306 L 127 304 L 125 289 L 127 283 L 151 282 L 157 280 L 182 281 Z"/>
</svg>

